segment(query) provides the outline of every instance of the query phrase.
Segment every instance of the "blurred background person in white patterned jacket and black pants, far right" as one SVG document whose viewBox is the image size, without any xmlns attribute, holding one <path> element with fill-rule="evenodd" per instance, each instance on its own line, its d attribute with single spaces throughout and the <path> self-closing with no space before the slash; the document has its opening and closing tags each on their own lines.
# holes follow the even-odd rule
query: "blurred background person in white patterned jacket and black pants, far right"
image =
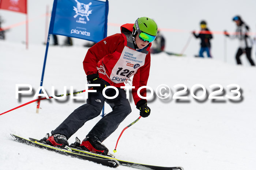
<svg viewBox="0 0 256 170">
<path fill-rule="evenodd" d="M 236 29 L 236 34 L 234 35 L 229 35 L 227 33 L 227 31 L 224 31 L 224 34 L 227 37 L 230 37 L 231 39 L 235 39 L 238 38 L 239 40 L 239 48 L 237 50 L 237 54 L 236 54 L 236 61 L 237 64 L 242 64 L 241 60 L 240 60 L 240 56 L 245 53 L 247 59 L 249 60 L 249 62 L 251 63 L 252 66 L 255 66 L 252 58 L 251 58 L 251 52 L 252 52 L 252 39 L 251 37 L 248 35 L 248 31 L 249 31 L 249 27 L 248 25 L 246 25 L 244 23 L 244 21 L 241 19 L 240 16 L 235 16 L 233 18 L 233 21 L 236 23 L 237 25 L 237 29 Z"/>
</svg>

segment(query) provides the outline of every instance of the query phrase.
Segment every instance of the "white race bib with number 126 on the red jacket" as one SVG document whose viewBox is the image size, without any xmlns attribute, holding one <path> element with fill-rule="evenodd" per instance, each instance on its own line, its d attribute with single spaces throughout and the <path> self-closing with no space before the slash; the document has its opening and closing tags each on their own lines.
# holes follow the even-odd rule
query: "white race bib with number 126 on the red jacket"
<svg viewBox="0 0 256 170">
<path fill-rule="evenodd" d="M 144 66 L 146 55 L 147 54 L 124 46 L 124 50 L 114 66 L 109 79 L 114 83 L 124 83 L 134 75 L 140 67 Z"/>
</svg>

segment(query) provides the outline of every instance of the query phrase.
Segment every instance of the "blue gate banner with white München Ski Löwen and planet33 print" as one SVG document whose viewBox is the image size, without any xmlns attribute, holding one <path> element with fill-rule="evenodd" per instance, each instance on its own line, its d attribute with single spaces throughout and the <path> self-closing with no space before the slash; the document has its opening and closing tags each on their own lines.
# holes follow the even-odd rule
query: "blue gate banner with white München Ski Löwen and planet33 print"
<svg viewBox="0 0 256 170">
<path fill-rule="evenodd" d="M 54 0 L 49 34 L 98 42 L 107 36 L 108 0 Z"/>
</svg>

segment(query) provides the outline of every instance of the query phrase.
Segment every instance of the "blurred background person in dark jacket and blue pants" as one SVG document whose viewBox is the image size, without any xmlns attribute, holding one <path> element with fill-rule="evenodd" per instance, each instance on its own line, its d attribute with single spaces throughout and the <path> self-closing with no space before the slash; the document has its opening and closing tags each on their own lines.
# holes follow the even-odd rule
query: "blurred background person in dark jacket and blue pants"
<svg viewBox="0 0 256 170">
<path fill-rule="evenodd" d="M 199 51 L 199 57 L 204 57 L 203 56 L 203 52 L 206 51 L 207 52 L 207 56 L 209 58 L 212 58 L 210 50 L 211 50 L 211 43 L 210 43 L 210 39 L 212 39 L 212 34 L 209 31 L 209 29 L 207 28 L 207 24 L 206 21 L 201 21 L 200 22 L 200 27 L 201 27 L 201 31 L 199 32 L 199 35 L 196 35 L 195 31 L 193 31 L 193 35 L 196 38 L 200 38 L 201 39 L 201 48 Z"/>
</svg>

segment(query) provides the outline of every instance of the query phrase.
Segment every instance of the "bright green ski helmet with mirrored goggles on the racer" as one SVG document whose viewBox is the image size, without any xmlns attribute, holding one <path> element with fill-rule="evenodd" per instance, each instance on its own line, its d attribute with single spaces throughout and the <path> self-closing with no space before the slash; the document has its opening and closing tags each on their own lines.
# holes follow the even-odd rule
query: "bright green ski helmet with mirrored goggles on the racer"
<svg viewBox="0 0 256 170">
<path fill-rule="evenodd" d="M 152 42 L 157 36 L 157 24 L 153 19 L 140 17 L 133 25 L 132 35 L 135 36 L 137 32 L 141 40 Z"/>
</svg>

